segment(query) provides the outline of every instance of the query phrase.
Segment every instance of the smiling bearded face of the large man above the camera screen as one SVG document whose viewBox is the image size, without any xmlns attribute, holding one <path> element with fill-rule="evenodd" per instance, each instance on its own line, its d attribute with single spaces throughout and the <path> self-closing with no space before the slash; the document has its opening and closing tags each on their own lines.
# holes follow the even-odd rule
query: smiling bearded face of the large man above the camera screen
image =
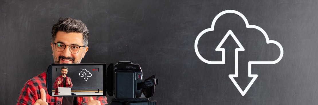
<svg viewBox="0 0 318 105">
<path fill-rule="evenodd" d="M 66 45 L 65 50 L 62 52 L 58 52 L 55 49 L 55 46 L 53 43 L 51 43 L 52 47 L 52 54 L 55 64 L 78 64 L 84 58 L 88 46 L 80 47 L 79 52 L 77 53 L 71 53 L 69 46 L 71 45 L 78 45 L 78 46 L 84 46 L 83 44 L 83 35 L 81 33 L 66 33 L 63 31 L 58 31 L 55 36 L 54 43 L 61 43 Z"/>
</svg>

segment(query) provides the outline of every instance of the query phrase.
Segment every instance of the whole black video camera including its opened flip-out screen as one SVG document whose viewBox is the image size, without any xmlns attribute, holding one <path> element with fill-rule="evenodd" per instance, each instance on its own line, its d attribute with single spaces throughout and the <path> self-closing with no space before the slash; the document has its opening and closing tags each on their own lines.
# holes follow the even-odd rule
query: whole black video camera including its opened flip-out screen
<svg viewBox="0 0 318 105">
<path fill-rule="evenodd" d="M 64 73 L 72 85 L 58 84 L 58 81 L 63 81 L 63 67 L 67 67 L 67 72 Z M 110 64 L 107 70 L 105 63 L 51 64 L 46 81 L 50 96 L 106 96 L 107 92 L 109 96 L 114 96 L 110 105 L 157 104 L 156 101 L 149 101 L 158 83 L 155 75 L 142 82 L 140 66 L 129 61 Z"/>
</svg>

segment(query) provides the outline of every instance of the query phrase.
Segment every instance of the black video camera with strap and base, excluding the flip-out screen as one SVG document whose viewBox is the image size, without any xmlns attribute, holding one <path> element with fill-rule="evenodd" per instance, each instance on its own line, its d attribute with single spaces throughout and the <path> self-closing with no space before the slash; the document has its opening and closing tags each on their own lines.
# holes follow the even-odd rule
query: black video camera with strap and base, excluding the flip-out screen
<svg viewBox="0 0 318 105">
<path fill-rule="evenodd" d="M 142 70 L 138 64 L 121 61 L 110 64 L 106 71 L 106 91 L 114 96 L 110 105 L 156 105 L 149 101 L 158 83 L 155 75 L 142 82 Z M 144 98 L 141 98 L 142 93 Z"/>
</svg>

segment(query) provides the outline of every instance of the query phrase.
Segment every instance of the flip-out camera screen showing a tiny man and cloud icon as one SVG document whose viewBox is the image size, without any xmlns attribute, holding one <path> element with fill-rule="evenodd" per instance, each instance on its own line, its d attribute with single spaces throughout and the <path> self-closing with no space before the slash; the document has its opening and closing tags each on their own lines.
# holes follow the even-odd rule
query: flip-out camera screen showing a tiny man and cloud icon
<svg viewBox="0 0 318 105">
<path fill-rule="evenodd" d="M 106 64 L 52 64 L 46 85 L 50 96 L 106 96 Z"/>
</svg>

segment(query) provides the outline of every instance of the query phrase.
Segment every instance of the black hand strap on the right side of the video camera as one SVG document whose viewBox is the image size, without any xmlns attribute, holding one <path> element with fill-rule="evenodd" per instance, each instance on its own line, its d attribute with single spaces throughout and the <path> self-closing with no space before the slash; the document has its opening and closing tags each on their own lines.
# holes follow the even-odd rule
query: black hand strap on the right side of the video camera
<svg viewBox="0 0 318 105">
<path fill-rule="evenodd" d="M 150 98 L 154 96 L 155 93 L 155 86 L 158 84 L 158 79 L 156 79 L 155 75 L 150 76 L 149 78 L 145 79 L 144 82 L 138 83 L 137 88 L 142 90 L 143 95 L 146 98 Z"/>
</svg>

